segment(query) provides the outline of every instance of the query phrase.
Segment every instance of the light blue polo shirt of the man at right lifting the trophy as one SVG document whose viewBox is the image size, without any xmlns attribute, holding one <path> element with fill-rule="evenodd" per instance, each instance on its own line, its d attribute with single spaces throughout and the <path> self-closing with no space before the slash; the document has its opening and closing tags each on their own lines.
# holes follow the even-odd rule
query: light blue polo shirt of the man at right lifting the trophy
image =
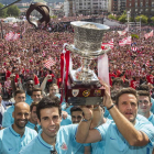
<svg viewBox="0 0 154 154">
<path fill-rule="evenodd" d="M 131 146 L 128 141 L 119 132 L 114 121 L 105 123 L 97 130 L 101 134 L 105 143 L 105 154 L 152 154 L 154 142 L 154 127 L 147 120 L 138 120 L 134 125 L 136 130 L 144 132 L 150 143 L 145 146 Z"/>
</svg>

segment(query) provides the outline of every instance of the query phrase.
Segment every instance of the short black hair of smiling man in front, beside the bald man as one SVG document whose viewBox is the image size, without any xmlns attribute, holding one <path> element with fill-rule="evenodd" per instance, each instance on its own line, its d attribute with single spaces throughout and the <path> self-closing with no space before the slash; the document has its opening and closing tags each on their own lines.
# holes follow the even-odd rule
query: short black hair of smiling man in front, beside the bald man
<svg viewBox="0 0 154 154">
<path fill-rule="evenodd" d="M 57 107 L 58 108 L 58 112 L 59 116 L 62 114 L 62 108 L 61 108 L 61 100 L 58 97 L 44 97 L 36 107 L 36 114 L 38 120 L 41 121 L 41 114 L 40 111 L 42 109 L 46 109 L 46 108 L 53 108 L 53 107 Z"/>
</svg>

